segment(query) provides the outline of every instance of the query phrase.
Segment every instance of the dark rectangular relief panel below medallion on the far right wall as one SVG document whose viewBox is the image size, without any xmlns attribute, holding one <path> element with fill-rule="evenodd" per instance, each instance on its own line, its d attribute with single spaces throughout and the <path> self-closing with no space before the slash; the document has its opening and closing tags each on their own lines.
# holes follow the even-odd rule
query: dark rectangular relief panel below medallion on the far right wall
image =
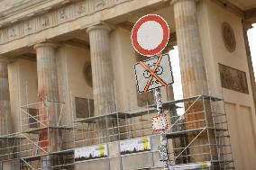
<svg viewBox="0 0 256 170">
<path fill-rule="evenodd" d="M 219 64 L 219 71 L 222 87 L 243 94 L 249 94 L 245 72 L 222 64 Z"/>
</svg>

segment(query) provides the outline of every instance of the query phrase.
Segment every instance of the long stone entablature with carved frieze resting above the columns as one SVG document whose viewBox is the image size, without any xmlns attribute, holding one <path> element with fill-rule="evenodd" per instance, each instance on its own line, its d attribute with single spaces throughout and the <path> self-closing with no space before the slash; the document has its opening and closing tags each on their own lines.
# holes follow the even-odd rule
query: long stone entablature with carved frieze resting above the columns
<svg viewBox="0 0 256 170">
<path fill-rule="evenodd" d="M 24 0 L 25 1 L 25 0 Z M 39 0 L 38 0 L 39 1 Z M 62 3 L 63 0 L 54 0 Z M 75 0 L 62 4 L 47 13 L 33 14 L 24 20 L 0 28 L 0 54 L 28 48 L 43 40 L 78 33 L 101 22 L 122 22 L 127 15 L 156 10 L 168 1 L 163 0 Z M 126 17 L 125 17 L 126 16 Z M 115 24 L 115 23 L 114 23 Z M 85 32 L 86 33 L 86 32 Z"/>
</svg>

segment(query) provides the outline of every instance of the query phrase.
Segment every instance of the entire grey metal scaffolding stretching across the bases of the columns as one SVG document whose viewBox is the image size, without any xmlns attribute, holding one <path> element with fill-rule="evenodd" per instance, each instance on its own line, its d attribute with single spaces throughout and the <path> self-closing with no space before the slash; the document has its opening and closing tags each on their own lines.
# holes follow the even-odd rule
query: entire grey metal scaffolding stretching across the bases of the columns
<svg viewBox="0 0 256 170">
<path fill-rule="evenodd" d="M 52 101 L 22 106 L 21 132 L 0 137 L 3 144 L 0 160 L 17 160 L 20 169 L 42 169 L 43 164 L 50 165 L 49 169 L 74 169 L 76 148 L 157 135 L 151 130 L 151 117 L 157 112 L 155 104 L 85 119 L 73 119 L 70 115 L 74 116 L 74 113 L 64 112 L 64 106 L 64 103 Z M 45 108 L 46 114 L 38 112 L 40 107 Z M 52 107 L 59 110 L 52 110 Z M 182 114 L 178 113 L 180 109 L 184 110 Z M 172 169 L 234 169 L 224 102 L 221 99 L 199 95 L 163 103 L 163 110 L 169 121 L 167 138 L 171 143 L 169 164 Z M 49 114 L 57 116 L 54 126 L 49 123 Z M 99 123 L 101 126 L 98 126 Z M 57 144 L 50 144 L 50 139 L 41 138 L 50 130 L 56 131 L 57 136 L 61 137 Z M 58 149 L 50 150 L 50 145 L 58 145 Z"/>
</svg>

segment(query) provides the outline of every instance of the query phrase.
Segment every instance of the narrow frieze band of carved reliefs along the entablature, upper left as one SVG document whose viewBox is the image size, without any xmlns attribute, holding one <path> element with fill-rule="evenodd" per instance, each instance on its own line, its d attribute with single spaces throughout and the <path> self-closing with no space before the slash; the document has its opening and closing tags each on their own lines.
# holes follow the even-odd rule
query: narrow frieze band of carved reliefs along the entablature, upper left
<svg viewBox="0 0 256 170">
<path fill-rule="evenodd" d="M 24 3 L 26 0 L 20 0 Z M 131 0 L 84 0 L 0 29 L 0 44 Z"/>
</svg>

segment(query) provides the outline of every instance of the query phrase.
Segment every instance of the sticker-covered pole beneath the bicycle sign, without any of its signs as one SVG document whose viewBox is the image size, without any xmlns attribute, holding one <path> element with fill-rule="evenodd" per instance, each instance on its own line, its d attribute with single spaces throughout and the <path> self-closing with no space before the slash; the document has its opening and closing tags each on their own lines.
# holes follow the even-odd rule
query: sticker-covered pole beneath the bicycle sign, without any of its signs
<svg viewBox="0 0 256 170">
<path fill-rule="evenodd" d="M 157 103 L 157 112 L 158 115 L 162 115 L 162 101 L 161 101 L 161 94 L 160 88 L 155 89 L 155 99 Z M 160 160 L 164 162 L 164 169 L 169 170 L 168 164 L 168 147 L 167 147 L 167 139 L 165 130 L 160 130 Z"/>
</svg>

